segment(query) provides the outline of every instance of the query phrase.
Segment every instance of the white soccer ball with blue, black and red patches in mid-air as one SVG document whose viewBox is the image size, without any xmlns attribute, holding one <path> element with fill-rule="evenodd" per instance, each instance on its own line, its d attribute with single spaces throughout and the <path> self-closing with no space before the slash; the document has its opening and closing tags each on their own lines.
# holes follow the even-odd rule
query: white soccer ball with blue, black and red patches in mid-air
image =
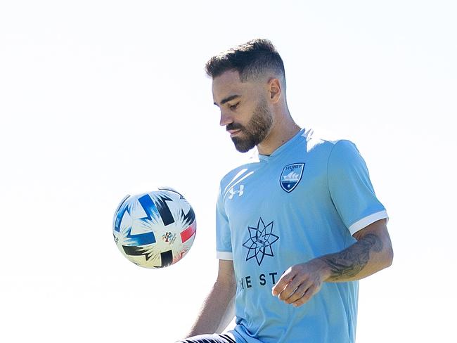
<svg viewBox="0 0 457 343">
<path fill-rule="evenodd" d="M 138 266 L 162 268 L 191 249 L 197 223 L 191 205 L 172 188 L 127 195 L 114 215 L 112 235 L 120 252 Z"/>
</svg>

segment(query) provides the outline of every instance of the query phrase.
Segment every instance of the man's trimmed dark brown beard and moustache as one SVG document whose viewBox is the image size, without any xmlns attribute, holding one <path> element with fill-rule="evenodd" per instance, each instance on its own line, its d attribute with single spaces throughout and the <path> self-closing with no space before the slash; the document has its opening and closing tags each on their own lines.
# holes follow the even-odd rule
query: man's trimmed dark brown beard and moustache
<svg viewBox="0 0 457 343">
<path fill-rule="evenodd" d="M 273 125 L 273 116 L 266 105 L 265 99 L 262 99 L 254 110 L 252 118 L 245 127 L 241 124 L 228 124 L 227 130 L 240 130 L 238 136 L 232 137 L 236 150 L 240 153 L 247 151 L 259 145 L 269 134 Z"/>
</svg>

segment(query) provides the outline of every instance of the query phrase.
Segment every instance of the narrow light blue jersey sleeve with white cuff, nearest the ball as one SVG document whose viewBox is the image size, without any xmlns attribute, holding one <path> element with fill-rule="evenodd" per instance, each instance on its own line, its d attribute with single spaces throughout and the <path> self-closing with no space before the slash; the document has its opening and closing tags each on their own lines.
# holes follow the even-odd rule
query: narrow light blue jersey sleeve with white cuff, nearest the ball
<svg viewBox="0 0 457 343">
<path fill-rule="evenodd" d="M 233 260 L 230 226 L 224 209 L 222 188 L 216 205 L 216 257 Z"/>
</svg>

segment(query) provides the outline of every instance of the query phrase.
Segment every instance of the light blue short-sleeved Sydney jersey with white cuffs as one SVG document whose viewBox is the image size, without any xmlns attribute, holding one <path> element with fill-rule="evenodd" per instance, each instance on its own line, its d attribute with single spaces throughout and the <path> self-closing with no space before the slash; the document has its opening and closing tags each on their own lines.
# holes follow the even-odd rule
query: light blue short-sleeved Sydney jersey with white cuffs
<svg viewBox="0 0 457 343">
<path fill-rule="evenodd" d="M 270 156 L 221 180 L 217 257 L 233 259 L 237 342 L 354 342 L 358 282 L 324 283 L 294 307 L 271 295 L 290 266 L 352 245 L 387 218 L 366 164 L 349 141 L 300 131 Z"/>
</svg>

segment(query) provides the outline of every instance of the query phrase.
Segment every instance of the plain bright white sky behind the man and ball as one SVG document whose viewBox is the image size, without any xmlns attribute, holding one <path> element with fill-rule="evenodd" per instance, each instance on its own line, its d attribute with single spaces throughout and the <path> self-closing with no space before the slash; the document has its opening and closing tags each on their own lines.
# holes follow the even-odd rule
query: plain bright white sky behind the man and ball
<svg viewBox="0 0 457 343">
<path fill-rule="evenodd" d="M 174 342 L 216 276 L 219 179 L 242 163 L 204 64 L 255 37 L 302 127 L 348 138 L 390 214 L 391 268 L 361 281 L 358 343 L 455 339 L 455 1 L 1 1 L 0 341 Z M 195 209 L 162 270 L 112 240 L 126 195 Z"/>
</svg>

